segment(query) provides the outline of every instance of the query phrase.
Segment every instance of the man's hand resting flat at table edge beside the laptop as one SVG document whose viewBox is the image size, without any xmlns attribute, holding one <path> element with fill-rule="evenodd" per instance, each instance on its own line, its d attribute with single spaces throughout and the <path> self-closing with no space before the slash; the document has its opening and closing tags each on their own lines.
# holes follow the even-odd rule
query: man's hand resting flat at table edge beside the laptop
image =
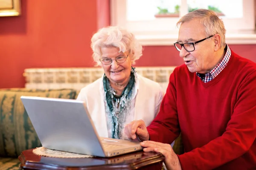
<svg viewBox="0 0 256 170">
<path fill-rule="evenodd" d="M 144 152 L 158 152 L 162 153 L 165 157 L 165 165 L 168 170 L 181 170 L 180 161 L 178 156 L 172 150 L 170 144 L 163 144 L 154 141 L 144 141 L 140 143 L 141 146 L 145 147 Z"/>
</svg>

